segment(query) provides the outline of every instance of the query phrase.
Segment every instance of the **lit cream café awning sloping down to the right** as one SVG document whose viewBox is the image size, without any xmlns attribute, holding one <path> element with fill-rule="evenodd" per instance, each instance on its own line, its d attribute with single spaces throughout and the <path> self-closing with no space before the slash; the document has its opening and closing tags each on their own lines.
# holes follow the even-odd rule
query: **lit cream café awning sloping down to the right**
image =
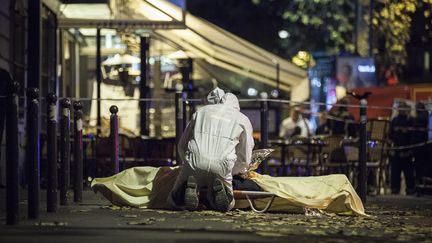
<svg viewBox="0 0 432 243">
<path fill-rule="evenodd" d="M 305 70 L 183 11 L 169 1 L 130 0 L 127 11 L 113 11 L 106 19 L 65 16 L 60 19 L 59 26 L 123 27 L 134 30 L 137 34 L 149 34 L 152 38 L 182 50 L 189 57 L 205 60 L 211 65 L 248 77 L 251 82 L 260 82 L 290 93 L 291 100 L 303 101 L 309 98 L 309 81 Z M 152 22 L 157 25 L 149 24 Z M 165 27 L 158 28 L 161 25 Z"/>
</svg>

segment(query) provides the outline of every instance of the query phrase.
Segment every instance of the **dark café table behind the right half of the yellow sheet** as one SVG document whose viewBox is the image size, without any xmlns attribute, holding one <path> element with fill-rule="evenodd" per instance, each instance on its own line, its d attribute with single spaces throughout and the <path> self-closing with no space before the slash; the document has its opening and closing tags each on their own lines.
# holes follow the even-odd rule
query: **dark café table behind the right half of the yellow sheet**
<svg viewBox="0 0 432 243">
<path fill-rule="evenodd" d="M 272 139 L 269 140 L 270 145 L 279 146 L 281 148 L 281 164 L 282 164 L 282 176 L 286 175 L 287 163 L 286 163 L 286 155 L 288 154 L 289 147 L 292 146 L 305 146 L 307 147 L 306 153 L 306 168 L 307 175 L 311 175 L 309 165 L 311 163 L 311 159 L 315 152 L 319 155 L 322 151 L 322 147 L 326 145 L 326 143 L 321 139 L 321 137 L 293 137 L 290 139 Z M 312 155 L 312 156 L 311 156 Z"/>
</svg>

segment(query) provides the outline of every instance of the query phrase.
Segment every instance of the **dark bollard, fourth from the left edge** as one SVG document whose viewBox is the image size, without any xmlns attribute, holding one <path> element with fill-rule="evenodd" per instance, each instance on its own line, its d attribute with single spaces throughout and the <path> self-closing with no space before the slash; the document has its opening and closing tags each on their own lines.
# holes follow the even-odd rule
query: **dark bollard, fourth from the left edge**
<svg viewBox="0 0 432 243">
<path fill-rule="evenodd" d="M 60 120 L 60 205 L 67 205 L 70 186 L 70 107 L 68 98 L 61 100 Z"/>
</svg>

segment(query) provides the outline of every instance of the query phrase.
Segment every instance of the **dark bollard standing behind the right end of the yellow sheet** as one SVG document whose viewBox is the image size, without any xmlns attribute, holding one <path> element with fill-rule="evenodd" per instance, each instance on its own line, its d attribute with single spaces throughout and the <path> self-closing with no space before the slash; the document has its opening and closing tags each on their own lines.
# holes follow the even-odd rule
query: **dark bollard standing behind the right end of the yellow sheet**
<svg viewBox="0 0 432 243">
<path fill-rule="evenodd" d="M 366 203 L 367 177 L 366 177 L 366 143 L 367 143 L 367 101 L 360 100 L 360 145 L 359 145 L 359 195 L 363 203 Z"/>
</svg>

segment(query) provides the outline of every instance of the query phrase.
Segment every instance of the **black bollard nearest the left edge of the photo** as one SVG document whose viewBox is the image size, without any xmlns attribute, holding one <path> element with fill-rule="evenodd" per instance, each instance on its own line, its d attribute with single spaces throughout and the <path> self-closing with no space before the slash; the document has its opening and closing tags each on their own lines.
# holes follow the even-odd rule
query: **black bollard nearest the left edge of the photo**
<svg viewBox="0 0 432 243">
<path fill-rule="evenodd" d="M 6 224 L 19 222 L 18 96 L 19 83 L 10 81 L 6 98 Z"/>
</svg>

